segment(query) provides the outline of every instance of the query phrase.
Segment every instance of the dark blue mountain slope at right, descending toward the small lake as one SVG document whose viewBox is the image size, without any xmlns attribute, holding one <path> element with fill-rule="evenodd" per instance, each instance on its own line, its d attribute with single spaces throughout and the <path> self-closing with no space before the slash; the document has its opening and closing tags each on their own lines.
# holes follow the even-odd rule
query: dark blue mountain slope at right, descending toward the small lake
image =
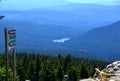
<svg viewBox="0 0 120 81">
<path fill-rule="evenodd" d="M 80 38 L 68 41 L 67 45 L 74 50 L 85 50 L 86 53 L 100 59 L 118 60 L 120 59 L 120 21 L 88 31 Z"/>
</svg>

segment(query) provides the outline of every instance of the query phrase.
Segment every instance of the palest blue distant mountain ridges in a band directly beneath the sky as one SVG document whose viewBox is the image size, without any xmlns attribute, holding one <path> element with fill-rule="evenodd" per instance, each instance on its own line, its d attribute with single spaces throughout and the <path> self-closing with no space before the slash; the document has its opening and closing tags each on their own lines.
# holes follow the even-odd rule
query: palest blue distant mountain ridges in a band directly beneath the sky
<svg viewBox="0 0 120 81">
<path fill-rule="evenodd" d="M 84 26 L 84 28 L 87 27 L 86 29 L 108 25 L 120 20 L 119 6 L 70 2 L 68 2 L 68 4 L 56 5 L 50 8 L 35 8 L 21 11 L 1 10 L 0 12 L 0 14 L 6 16 L 5 19 L 12 21 L 22 20 L 40 24 L 62 24 L 72 27 Z"/>
</svg>

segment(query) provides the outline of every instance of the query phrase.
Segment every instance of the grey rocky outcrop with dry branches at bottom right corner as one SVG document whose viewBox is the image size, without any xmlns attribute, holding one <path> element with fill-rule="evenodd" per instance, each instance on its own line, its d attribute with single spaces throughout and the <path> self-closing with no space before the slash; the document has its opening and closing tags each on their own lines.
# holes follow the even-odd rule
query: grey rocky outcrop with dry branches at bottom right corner
<svg viewBox="0 0 120 81">
<path fill-rule="evenodd" d="M 98 73 L 96 78 L 88 78 L 80 81 L 120 81 L 120 61 L 115 61 L 107 65 L 102 71 L 96 68 L 96 72 Z M 103 76 L 103 74 L 105 76 Z M 109 78 L 107 77 L 108 75 L 110 76 Z M 104 78 L 106 78 L 106 80 L 104 80 Z"/>
</svg>

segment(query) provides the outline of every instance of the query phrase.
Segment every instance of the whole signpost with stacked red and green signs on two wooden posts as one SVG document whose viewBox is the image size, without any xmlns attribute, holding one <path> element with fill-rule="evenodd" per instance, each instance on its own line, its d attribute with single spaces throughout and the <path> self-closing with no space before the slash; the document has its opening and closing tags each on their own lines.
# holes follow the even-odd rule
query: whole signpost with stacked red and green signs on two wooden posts
<svg viewBox="0 0 120 81">
<path fill-rule="evenodd" d="M 13 50 L 13 81 L 16 81 L 16 31 L 15 30 L 7 30 L 5 31 L 5 54 L 6 54 L 6 81 L 8 81 L 8 51 Z"/>
</svg>

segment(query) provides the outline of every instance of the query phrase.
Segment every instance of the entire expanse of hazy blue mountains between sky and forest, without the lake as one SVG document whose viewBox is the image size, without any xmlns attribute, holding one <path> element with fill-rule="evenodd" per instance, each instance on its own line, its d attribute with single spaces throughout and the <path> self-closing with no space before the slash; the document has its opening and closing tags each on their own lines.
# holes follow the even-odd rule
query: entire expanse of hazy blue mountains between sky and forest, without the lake
<svg viewBox="0 0 120 81">
<path fill-rule="evenodd" d="M 1 38 L 4 39 L 2 32 L 4 27 L 15 28 L 19 51 L 44 50 L 44 53 L 54 51 L 55 54 L 60 51 L 61 54 L 71 53 L 74 56 L 94 58 L 100 56 L 101 59 L 106 59 L 105 56 L 111 59 L 118 55 L 119 6 L 69 3 L 54 7 L 0 10 L 0 14 L 5 16 L 0 22 Z M 116 23 L 111 24 L 113 22 Z M 70 40 L 53 43 L 53 40 L 64 38 Z M 2 48 L 4 41 L 0 41 Z"/>
</svg>

